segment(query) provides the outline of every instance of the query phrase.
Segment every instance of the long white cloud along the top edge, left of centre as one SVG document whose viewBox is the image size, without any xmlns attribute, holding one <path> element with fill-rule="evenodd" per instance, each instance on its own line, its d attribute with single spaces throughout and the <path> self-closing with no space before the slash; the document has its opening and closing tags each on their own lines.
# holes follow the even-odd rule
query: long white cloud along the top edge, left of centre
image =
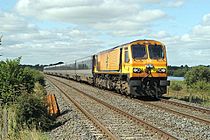
<svg viewBox="0 0 210 140">
<path fill-rule="evenodd" d="M 16 9 L 22 15 L 35 16 L 40 19 L 86 24 L 129 14 L 134 8 L 132 5 L 130 6 L 131 9 L 127 10 L 126 4 L 112 0 L 73 0 L 70 2 L 60 0 L 54 0 L 53 2 L 49 0 L 20 0 L 16 5 Z"/>
</svg>

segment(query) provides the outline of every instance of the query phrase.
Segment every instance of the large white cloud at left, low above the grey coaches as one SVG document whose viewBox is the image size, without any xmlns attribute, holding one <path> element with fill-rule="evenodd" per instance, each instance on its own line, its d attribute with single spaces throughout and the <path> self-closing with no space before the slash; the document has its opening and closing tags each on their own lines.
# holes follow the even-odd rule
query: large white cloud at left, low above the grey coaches
<svg viewBox="0 0 210 140">
<path fill-rule="evenodd" d="M 0 17 L 0 34 L 4 35 L 1 60 L 22 56 L 26 64 L 48 64 L 80 58 L 78 54 L 87 56 L 104 47 L 89 31 L 40 29 L 14 13 L 0 12 Z"/>
</svg>

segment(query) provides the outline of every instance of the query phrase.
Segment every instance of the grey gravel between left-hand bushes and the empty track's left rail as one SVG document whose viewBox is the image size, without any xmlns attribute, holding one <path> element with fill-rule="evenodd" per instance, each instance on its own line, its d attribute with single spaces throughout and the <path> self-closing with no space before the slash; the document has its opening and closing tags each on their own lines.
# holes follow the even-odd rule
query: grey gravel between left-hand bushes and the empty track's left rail
<svg viewBox="0 0 210 140">
<path fill-rule="evenodd" d="M 56 118 L 56 128 L 48 132 L 51 140 L 96 140 L 105 139 L 103 134 L 90 122 L 84 114 L 47 82 L 46 90 L 55 94 L 61 115 Z"/>
</svg>

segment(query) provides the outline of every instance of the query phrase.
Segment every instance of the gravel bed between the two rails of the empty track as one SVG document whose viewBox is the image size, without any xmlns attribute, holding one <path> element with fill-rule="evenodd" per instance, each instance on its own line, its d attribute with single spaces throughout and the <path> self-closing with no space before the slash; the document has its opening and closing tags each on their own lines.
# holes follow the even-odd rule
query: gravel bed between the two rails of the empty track
<svg viewBox="0 0 210 140">
<path fill-rule="evenodd" d="M 59 87 L 63 85 L 56 83 Z M 119 139 L 157 139 L 158 136 L 145 130 L 143 126 L 129 120 L 128 118 L 110 110 L 104 105 L 87 98 L 84 95 L 80 95 L 77 91 L 65 86 L 63 90 L 67 92 L 71 97 L 78 101 L 86 110 L 90 111 L 100 122 L 102 122 L 106 128 L 108 128 Z"/>
</svg>

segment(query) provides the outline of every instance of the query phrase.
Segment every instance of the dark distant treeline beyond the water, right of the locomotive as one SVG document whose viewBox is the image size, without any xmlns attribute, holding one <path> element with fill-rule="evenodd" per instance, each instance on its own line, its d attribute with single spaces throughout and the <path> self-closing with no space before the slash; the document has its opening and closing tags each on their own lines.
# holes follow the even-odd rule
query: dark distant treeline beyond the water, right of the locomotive
<svg viewBox="0 0 210 140">
<path fill-rule="evenodd" d="M 210 68 L 210 65 L 204 66 Z M 184 77 L 185 73 L 189 71 L 192 67 L 188 65 L 181 65 L 181 66 L 168 66 L 168 75 L 175 76 L 175 77 Z"/>
</svg>

